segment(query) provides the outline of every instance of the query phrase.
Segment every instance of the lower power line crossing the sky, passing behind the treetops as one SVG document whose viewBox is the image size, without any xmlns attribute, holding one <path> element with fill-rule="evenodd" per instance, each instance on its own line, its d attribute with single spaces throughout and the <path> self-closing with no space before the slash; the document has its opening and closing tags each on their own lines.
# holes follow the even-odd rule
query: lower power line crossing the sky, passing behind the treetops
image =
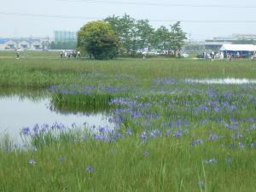
<svg viewBox="0 0 256 192">
<path fill-rule="evenodd" d="M 24 14 L 0 12 L 0 15 L 26 16 L 26 17 L 42 17 L 42 18 L 59 18 L 59 19 L 75 19 L 75 20 L 102 20 L 100 17 L 70 16 L 70 15 L 43 15 L 43 14 Z M 167 20 L 167 19 L 148 19 L 151 22 L 177 22 L 183 23 L 224 23 L 224 24 L 243 24 L 256 23 L 256 20 Z"/>
</svg>

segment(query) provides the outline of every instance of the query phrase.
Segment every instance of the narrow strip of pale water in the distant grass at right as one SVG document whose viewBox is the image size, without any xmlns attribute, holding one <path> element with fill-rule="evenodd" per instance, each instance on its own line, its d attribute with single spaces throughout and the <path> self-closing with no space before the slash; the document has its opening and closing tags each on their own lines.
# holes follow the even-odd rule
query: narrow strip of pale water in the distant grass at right
<svg viewBox="0 0 256 192">
<path fill-rule="evenodd" d="M 256 84 L 256 79 L 185 79 L 184 81 L 192 84 Z"/>
</svg>

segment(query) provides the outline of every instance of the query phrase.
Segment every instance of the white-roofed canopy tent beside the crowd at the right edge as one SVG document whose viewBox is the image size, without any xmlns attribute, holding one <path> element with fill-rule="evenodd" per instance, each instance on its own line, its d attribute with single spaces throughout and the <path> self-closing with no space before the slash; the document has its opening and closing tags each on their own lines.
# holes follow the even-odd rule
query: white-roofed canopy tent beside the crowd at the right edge
<svg viewBox="0 0 256 192">
<path fill-rule="evenodd" d="M 219 49 L 224 52 L 224 54 L 231 54 L 233 56 L 237 55 L 237 52 L 241 57 L 247 58 L 255 54 L 256 45 L 253 44 L 224 44 Z"/>
</svg>

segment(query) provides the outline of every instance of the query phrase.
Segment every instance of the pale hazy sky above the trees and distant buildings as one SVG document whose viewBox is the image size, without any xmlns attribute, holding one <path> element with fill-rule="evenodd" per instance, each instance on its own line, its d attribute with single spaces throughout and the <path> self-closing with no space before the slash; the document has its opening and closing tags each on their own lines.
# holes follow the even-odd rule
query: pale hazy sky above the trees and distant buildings
<svg viewBox="0 0 256 192">
<path fill-rule="evenodd" d="M 90 20 L 125 13 L 154 27 L 182 20 L 192 39 L 256 33 L 255 0 L 1 0 L 0 37 L 52 38 L 54 30 L 78 31 Z"/>
</svg>

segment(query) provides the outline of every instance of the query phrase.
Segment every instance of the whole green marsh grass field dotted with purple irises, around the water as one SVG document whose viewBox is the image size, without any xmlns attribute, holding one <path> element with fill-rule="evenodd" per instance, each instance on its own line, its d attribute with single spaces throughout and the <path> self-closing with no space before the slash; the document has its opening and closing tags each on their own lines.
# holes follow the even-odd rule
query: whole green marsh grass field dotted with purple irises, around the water
<svg viewBox="0 0 256 192">
<path fill-rule="evenodd" d="M 67 108 L 108 108 L 116 125 L 94 135 L 31 127 L 22 130 L 32 139 L 25 149 L 4 137 L 0 191 L 255 191 L 256 84 L 183 81 L 256 79 L 255 72 L 256 61 L 0 53 L 2 96 L 47 90 Z"/>
</svg>

